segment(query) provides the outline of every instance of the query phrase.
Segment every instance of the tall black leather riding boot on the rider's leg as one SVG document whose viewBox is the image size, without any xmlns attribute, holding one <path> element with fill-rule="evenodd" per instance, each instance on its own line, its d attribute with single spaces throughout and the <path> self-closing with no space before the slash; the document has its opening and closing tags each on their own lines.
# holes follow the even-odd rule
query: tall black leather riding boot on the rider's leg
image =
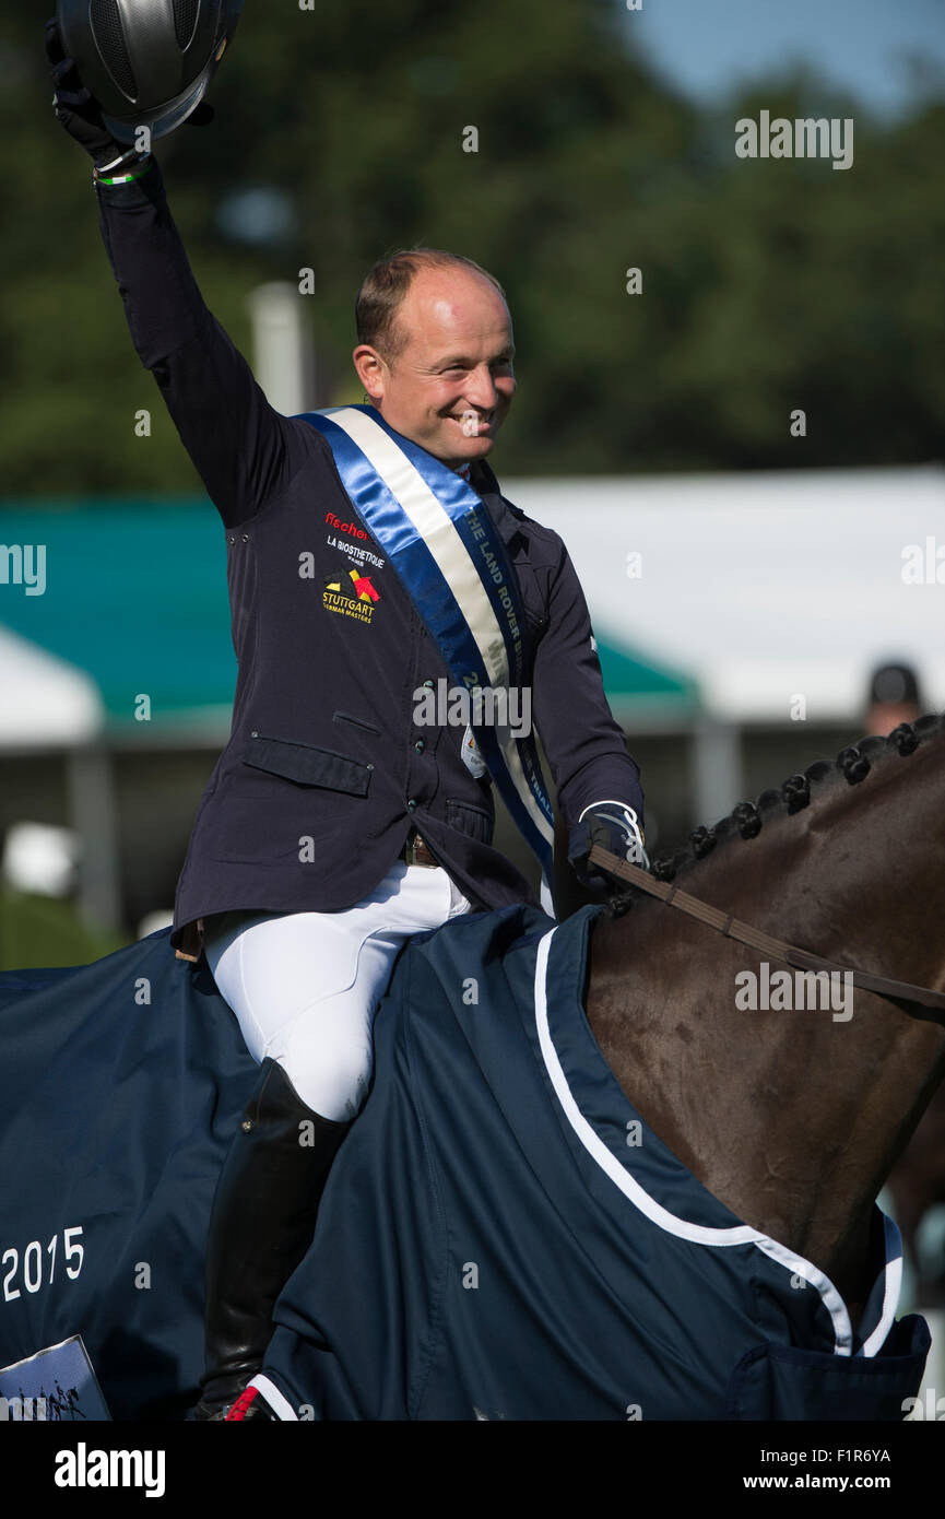
<svg viewBox="0 0 945 1519">
<path fill-rule="evenodd" d="M 260 1370 L 272 1308 L 314 1233 L 325 1179 L 349 1123 L 305 1107 L 263 1060 L 220 1180 L 207 1241 L 207 1366 L 194 1419 L 223 1419 Z"/>
</svg>

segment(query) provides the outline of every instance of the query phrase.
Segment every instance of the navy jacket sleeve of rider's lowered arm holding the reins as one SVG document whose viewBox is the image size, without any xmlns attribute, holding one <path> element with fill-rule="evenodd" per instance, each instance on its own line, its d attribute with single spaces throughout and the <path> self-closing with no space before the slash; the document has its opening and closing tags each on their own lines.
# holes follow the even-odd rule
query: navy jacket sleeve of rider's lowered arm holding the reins
<svg viewBox="0 0 945 1519">
<path fill-rule="evenodd" d="M 627 802 L 643 820 L 640 769 L 608 705 L 591 617 L 564 544 L 535 655 L 532 711 L 568 826 L 600 801 Z"/>
</svg>

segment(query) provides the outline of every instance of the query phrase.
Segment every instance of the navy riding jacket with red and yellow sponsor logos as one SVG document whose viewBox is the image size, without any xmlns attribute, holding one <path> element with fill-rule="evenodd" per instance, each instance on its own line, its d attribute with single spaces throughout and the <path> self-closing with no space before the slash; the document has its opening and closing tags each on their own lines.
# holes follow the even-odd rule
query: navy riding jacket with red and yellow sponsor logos
<svg viewBox="0 0 945 1519">
<path fill-rule="evenodd" d="M 357 518 L 325 439 L 272 409 L 204 304 L 160 166 L 97 196 L 135 349 L 226 536 L 232 729 L 196 814 L 172 945 L 196 957 L 210 913 L 352 907 L 412 826 L 474 905 L 535 904 L 492 848 L 491 781 L 466 767 L 465 729 L 415 720 L 413 693 L 448 681 L 433 636 Z M 561 538 L 506 501 L 483 460 L 469 483 L 521 586 L 532 720 L 565 822 L 602 799 L 641 814 L 640 772 Z"/>
</svg>

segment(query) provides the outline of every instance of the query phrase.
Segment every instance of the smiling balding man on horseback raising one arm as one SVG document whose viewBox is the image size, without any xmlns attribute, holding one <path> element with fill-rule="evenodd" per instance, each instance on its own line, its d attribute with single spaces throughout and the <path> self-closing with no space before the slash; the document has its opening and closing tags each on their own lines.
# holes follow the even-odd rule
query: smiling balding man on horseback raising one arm
<svg viewBox="0 0 945 1519">
<path fill-rule="evenodd" d="M 515 390 L 497 281 L 433 249 L 377 264 L 354 349 L 369 406 L 283 416 L 204 302 L 155 158 L 109 137 L 55 26 L 47 50 L 56 117 L 94 163 L 132 342 L 226 545 L 232 728 L 198 808 L 170 942 L 181 958 L 207 957 L 261 1066 L 210 1220 L 196 1410 L 245 1417 L 275 1299 L 368 1095 L 372 1019 L 401 945 L 471 910 L 535 904 L 492 848 L 495 779 L 547 852 L 530 740 L 506 750 L 480 731 L 486 764 L 468 728 L 424 723 L 413 702 L 456 682 L 436 624 L 444 588 L 460 586 L 453 627 L 472 638 L 482 623 L 469 647 L 489 658 L 488 627 L 507 614 L 498 641 L 530 691 L 582 880 L 594 840 L 641 849 L 643 793 L 564 544 L 503 498 L 486 463 Z M 466 535 L 468 562 L 421 573 L 404 545 L 435 547 L 409 510 L 442 527 L 441 509 Z M 266 1413 L 252 1405 L 249 1417 Z"/>
</svg>

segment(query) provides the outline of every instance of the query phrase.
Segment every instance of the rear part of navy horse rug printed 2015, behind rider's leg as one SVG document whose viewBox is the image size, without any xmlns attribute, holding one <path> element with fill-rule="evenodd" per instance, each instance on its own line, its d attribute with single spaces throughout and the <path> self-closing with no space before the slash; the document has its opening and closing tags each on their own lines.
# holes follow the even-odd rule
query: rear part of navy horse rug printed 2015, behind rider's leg
<svg viewBox="0 0 945 1519">
<path fill-rule="evenodd" d="M 210 1206 L 257 1082 L 170 930 L 0 975 L 0 1367 L 82 1335 L 114 1419 L 184 1419 Z"/>
</svg>

